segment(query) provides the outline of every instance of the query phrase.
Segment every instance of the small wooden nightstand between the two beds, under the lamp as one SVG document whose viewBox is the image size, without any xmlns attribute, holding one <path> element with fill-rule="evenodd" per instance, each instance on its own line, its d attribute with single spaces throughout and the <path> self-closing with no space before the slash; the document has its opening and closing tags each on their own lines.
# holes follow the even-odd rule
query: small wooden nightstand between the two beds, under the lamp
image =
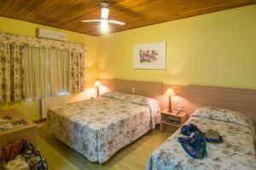
<svg viewBox="0 0 256 170">
<path fill-rule="evenodd" d="M 181 127 L 184 122 L 188 119 L 188 114 L 184 112 L 170 113 L 167 110 L 161 111 L 161 132 L 165 130 L 166 127 Z"/>
</svg>

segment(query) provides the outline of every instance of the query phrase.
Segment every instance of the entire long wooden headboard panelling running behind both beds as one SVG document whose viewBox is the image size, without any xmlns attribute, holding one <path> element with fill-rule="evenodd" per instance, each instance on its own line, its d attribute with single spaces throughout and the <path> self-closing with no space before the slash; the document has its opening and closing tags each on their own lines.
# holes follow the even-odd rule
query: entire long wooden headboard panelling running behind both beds
<svg viewBox="0 0 256 170">
<path fill-rule="evenodd" d="M 131 80 L 101 79 L 103 86 L 109 90 L 126 94 L 148 96 L 160 101 L 161 109 L 168 107 L 168 99 L 163 96 L 167 88 L 173 88 L 176 97 L 172 98 L 172 109 L 177 110 L 177 105 L 182 105 L 182 110 L 192 114 L 203 106 L 226 108 L 249 116 L 256 124 L 256 89 L 219 88 L 209 86 L 177 86 L 163 84 L 162 82 L 143 82 Z M 132 88 L 135 89 L 132 93 Z"/>
</svg>

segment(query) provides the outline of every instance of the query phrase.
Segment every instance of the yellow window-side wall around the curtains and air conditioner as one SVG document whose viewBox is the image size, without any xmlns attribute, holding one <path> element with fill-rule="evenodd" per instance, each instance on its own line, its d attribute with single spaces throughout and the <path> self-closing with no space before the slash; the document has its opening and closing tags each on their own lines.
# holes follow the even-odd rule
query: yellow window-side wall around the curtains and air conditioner
<svg viewBox="0 0 256 170">
<path fill-rule="evenodd" d="M 85 53 L 85 86 L 89 88 L 96 80 L 97 77 L 97 65 L 96 65 L 96 37 L 80 34 L 73 31 L 61 30 L 49 26 L 42 26 L 38 24 L 33 24 L 30 22 L 25 22 L 21 20 L 12 20 L 8 18 L 0 17 L 0 31 L 8 32 L 13 34 L 20 34 L 25 36 L 35 37 L 36 28 L 47 28 L 55 31 L 64 31 L 67 33 L 68 42 L 79 42 L 86 45 Z M 39 119 L 39 104 L 38 101 L 34 102 L 16 102 L 9 103 L 7 105 L 2 105 L 2 109 L 15 108 L 20 111 L 23 115 L 27 116 L 32 120 Z"/>
</svg>

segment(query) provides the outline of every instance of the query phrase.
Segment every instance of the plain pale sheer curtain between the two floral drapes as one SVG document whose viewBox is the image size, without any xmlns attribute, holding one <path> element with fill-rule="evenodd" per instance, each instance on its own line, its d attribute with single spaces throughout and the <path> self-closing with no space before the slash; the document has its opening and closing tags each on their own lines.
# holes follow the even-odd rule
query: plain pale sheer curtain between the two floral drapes
<svg viewBox="0 0 256 170">
<path fill-rule="evenodd" d="M 68 92 L 69 55 L 62 49 L 25 47 L 25 98 Z"/>
</svg>

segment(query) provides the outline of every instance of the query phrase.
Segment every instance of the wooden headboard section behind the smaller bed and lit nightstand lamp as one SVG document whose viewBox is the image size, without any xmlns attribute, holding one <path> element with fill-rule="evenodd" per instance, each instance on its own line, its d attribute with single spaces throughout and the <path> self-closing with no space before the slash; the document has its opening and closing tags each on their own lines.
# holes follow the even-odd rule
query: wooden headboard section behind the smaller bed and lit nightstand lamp
<svg viewBox="0 0 256 170">
<path fill-rule="evenodd" d="M 172 88 L 177 94 L 172 99 L 172 108 L 177 110 L 177 105 L 183 105 L 183 111 L 192 114 L 203 106 L 240 111 L 249 116 L 256 124 L 256 90 L 242 88 L 219 88 L 207 86 L 175 86 L 164 85 L 163 91 Z M 167 107 L 166 104 L 164 107 Z"/>
</svg>

